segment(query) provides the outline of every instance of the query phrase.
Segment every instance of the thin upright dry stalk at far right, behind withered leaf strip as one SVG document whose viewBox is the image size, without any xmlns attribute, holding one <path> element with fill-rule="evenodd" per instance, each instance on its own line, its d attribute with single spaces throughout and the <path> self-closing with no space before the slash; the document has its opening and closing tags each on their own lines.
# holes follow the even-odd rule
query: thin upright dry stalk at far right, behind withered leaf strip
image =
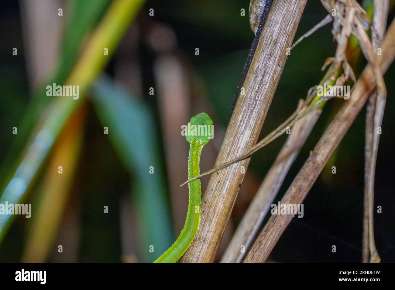
<svg viewBox="0 0 395 290">
<path fill-rule="evenodd" d="M 373 2 L 373 27 L 378 34 L 372 33 L 372 45 L 375 50 L 378 49 L 382 37 L 386 32 L 387 15 L 389 0 L 374 0 Z M 366 109 L 366 137 L 365 137 L 365 197 L 363 203 L 363 245 L 362 261 L 368 263 L 369 260 L 380 262 L 376 245 L 374 243 L 374 224 L 373 224 L 373 205 L 374 205 L 374 173 L 376 164 L 378 142 L 373 142 L 374 134 L 377 128 L 374 128 L 374 115 L 376 106 L 378 112 L 384 112 L 385 102 L 376 103 L 377 94 L 373 93 L 369 98 Z"/>
</svg>

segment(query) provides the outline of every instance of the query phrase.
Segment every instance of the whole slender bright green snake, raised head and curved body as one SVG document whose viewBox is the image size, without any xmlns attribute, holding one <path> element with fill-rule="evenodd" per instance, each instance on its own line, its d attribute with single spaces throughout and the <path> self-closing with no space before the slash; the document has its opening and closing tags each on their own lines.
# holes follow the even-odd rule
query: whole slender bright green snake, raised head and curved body
<svg viewBox="0 0 395 290">
<path fill-rule="evenodd" d="M 197 128 L 203 125 L 205 128 L 203 134 L 196 135 L 194 133 L 199 131 L 187 130 L 185 134 L 186 141 L 190 143 L 189 146 L 189 157 L 188 157 L 188 178 L 199 175 L 199 161 L 200 153 L 209 140 L 212 137 L 213 121 L 206 113 L 200 113 L 191 118 L 191 122 L 188 124 L 190 128 Z M 196 126 L 196 127 L 193 127 Z M 200 128 L 203 128 L 200 127 Z M 188 211 L 186 213 L 186 219 L 184 227 L 181 230 L 180 235 L 175 240 L 173 245 L 166 250 L 154 263 L 175 263 L 182 255 L 188 250 L 192 241 L 194 240 L 196 233 L 198 232 L 200 224 L 200 205 L 201 205 L 201 183 L 200 179 L 196 179 L 188 183 Z"/>
</svg>

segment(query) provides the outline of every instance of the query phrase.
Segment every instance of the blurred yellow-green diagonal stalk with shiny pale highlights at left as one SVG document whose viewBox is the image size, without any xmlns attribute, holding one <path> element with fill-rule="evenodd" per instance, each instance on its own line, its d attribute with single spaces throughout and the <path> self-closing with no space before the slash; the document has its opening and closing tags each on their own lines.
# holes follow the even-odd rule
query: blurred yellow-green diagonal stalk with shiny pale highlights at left
<svg viewBox="0 0 395 290">
<path fill-rule="evenodd" d="M 81 53 L 66 84 L 79 86 L 79 99 L 71 97 L 53 98 L 40 123 L 35 124 L 34 134 L 26 142 L 24 152 L 13 160 L 12 167 L 6 167 L 8 174 L 2 176 L 4 189 L 0 203 L 15 204 L 25 198 L 25 193 L 36 178 L 56 138 L 70 118 L 71 114 L 84 101 L 84 95 L 98 73 L 111 59 L 115 48 L 134 19 L 144 0 L 116 0 L 109 7 L 102 22 L 90 37 L 85 50 Z M 109 55 L 103 55 L 103 47 Z M 0 216 L 0 242 L 4 238 L 14 215 Z"/>
</svg>

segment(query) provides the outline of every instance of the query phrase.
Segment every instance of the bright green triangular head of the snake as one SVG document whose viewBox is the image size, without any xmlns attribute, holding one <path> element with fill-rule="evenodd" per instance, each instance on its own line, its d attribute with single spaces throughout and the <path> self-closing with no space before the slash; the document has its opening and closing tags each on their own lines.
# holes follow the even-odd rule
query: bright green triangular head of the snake
<svg viewBox="0 0 395 290">
<path fill-rule="evenodd" d="M 191 118 L 185 130 L 188 143 L 199 142 L 205 145 L 213 138 L 213 120 L 206 113 L 200 113 Z"/>
</svg>

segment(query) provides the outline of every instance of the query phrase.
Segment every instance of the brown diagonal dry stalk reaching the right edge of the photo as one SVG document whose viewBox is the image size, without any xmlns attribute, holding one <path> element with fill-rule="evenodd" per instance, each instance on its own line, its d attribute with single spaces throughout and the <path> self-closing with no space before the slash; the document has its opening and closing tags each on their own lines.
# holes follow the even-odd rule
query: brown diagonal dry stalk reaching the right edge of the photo
<svg viewBox="0 0 395 290">
<path fill-rule="evenodd" d="M 393 35 L 395 35 L 395 21 L 391 24 L 387 37 L 382 43 L 383 55 L 380 58 L 380 69 L 383 73 L 386 72 L 395 57 L 395 38 Z M 282 204 L 301 204 L 303 202 L 322 168 L 324 168 L 375 87 L 374 75 L 368 65 L 355 84 L 350 99 L 344 101 L 334 120 L 326 129 L 314 150 L 310 152 L 310 157 L 308 157 L 282 198 Z M 272 215 L 244 262 L 265 262 L 292 217 L 292 215 Z"/>
</svg>

